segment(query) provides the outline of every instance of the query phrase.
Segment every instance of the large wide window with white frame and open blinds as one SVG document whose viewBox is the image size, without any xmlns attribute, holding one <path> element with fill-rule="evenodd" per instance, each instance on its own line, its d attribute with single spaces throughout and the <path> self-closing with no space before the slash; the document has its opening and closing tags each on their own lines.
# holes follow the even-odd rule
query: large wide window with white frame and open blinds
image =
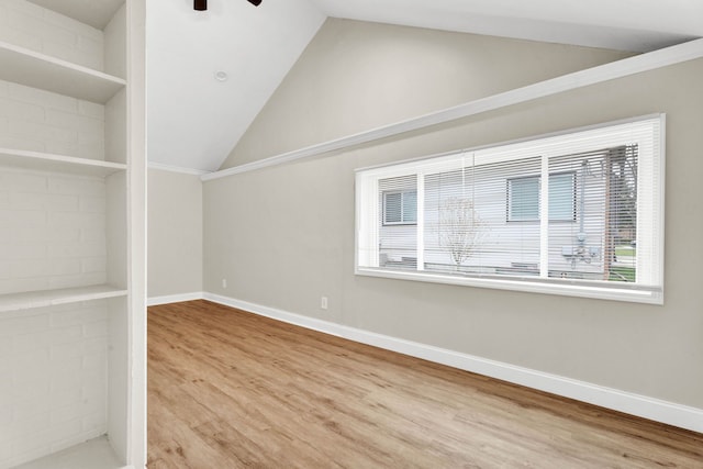
<svg viewBox="0 0 703 469">
<path fill-rule="evenodd" d="M 662 123 L 360 169 L 356 271 L 660 303 Z"/>
</svg>

